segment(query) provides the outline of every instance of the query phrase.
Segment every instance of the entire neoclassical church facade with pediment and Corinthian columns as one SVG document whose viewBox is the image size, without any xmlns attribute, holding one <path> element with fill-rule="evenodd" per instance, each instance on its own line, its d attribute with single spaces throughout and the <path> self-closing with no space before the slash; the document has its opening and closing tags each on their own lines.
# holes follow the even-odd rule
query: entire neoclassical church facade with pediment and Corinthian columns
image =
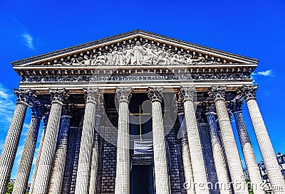
<svg viewBox="0 0 285 194">
<path fill-rule="evenodd" d="M 141 30 L 13 62 L 21 82 L 0 156 L 0 193 L 28 108 L 15 194 L 26 193 L 30 174 L 33 194 L 249 193 L 231 118 L 254 194 L 265 193 L 243 103 L 271 189 L 285 193 L 250 77 L 257 64 Z"/>
</svg>

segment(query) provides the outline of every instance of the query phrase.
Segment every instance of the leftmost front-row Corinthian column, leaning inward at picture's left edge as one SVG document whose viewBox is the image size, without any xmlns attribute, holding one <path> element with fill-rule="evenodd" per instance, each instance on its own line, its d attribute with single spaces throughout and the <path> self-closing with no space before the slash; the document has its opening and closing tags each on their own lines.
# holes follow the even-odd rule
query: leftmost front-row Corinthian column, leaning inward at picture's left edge
<svg viewBox="0 0 285 194">
<path fill-rule="evenodd" d="M 17 98 L 16 108 L 8 134 L 0 156 L 0 193 L 6 193 L 11 170 L 18 149 L 29 99 L 33 97 L 31 90 L 14 90 Z"/>
</svg>

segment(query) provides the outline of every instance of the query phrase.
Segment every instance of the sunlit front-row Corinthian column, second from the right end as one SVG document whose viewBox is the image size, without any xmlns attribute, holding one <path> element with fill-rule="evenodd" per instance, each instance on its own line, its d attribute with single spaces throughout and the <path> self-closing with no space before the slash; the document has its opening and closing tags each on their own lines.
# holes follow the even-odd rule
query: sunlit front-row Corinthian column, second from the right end
<svg viewBox="0 0 285 194">
<path fill-rule="evenodd" d="M 239 151 L 234 139 L 234 132 L 229 120 L 229 114 L 225 102 L 225 86 L 212 87 L 209 96 L 214 99 L 217 109 L 217 116 L 219 119 L 219 128 L 221 129 L 222 140 L 224 143 L 224 151 L 227 156 L 229 173 L 232 178 L 234 193 L 248 193 L 247 186 L 244 180 L 244 171 L 242 170 L 242 163 L 239 158 Z M 242 185 L 242 188 L 241 188 Z"/>
</svg>

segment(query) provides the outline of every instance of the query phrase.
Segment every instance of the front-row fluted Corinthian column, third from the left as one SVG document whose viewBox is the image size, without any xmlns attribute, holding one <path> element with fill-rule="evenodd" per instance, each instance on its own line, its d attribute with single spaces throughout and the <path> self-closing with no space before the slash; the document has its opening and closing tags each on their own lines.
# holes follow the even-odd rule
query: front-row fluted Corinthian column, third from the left
<svg viewBox="0 0 285 194">
<path fill-rule="evenodd" d="M 84 90 L 84 92 L 86 94 L 86 107 L 81 136 L 81 147 L 78 158 L 76 194 L 88 194 L 90 166 L 95 134 L 95 107 L 98 102 L 98 98 L 100 97 L 98 88 Z"/>
</svg>

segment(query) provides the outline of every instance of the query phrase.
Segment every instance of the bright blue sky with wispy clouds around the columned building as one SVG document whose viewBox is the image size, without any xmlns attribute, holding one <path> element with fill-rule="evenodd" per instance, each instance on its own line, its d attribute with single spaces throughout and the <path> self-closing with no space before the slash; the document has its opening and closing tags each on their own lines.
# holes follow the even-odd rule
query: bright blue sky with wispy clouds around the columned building
<svg viewBox="0 0 285 194">
<path fill-rule="evenodd" d="M 8 1 L 0 2 L 0 150 L 14 112 L 19 75 L 11 61 L 140 28 L 260 60 L 253 78 L 276 153 L 284 140 L 284 1 Z M 16 177 L 29 116 L 11 178 Z M 261 156 L 246 107 L 257 161 Z"/>
</svg>

